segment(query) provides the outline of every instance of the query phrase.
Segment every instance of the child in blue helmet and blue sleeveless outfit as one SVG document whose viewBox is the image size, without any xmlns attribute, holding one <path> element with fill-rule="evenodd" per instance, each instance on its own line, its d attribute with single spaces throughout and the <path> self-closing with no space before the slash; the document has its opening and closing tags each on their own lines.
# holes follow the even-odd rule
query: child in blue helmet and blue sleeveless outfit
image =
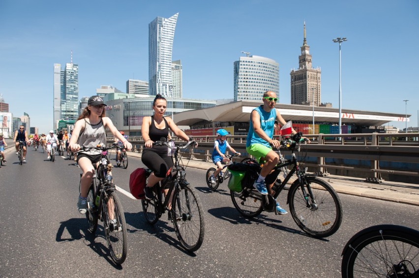
<svg viewBox="0 0 419 278">
<path fill-rule="evenodd" d="M 217 166 L 217 170 L 215 170 L 214 174 L 210 177 L 211 183 L 216 184 L 216 177 L 218 173 L 221 172 L 223 169 L 223 166 L 221 165 L 222 162 L 229 162 L 230 159 L 228 159 L 225 156 L 225 152 L 227 148 L 230 152 L 235 152 L 236 154 L 240 155 L 240 152 L 236 152 L 227 142 L 227 135 L 228 131 L 224 128 L 220 128 L 216 132 L 217 134 L 217 140 L 214 141 L 214 150 L 212 151 L 212 162 Z"/>
</svg>

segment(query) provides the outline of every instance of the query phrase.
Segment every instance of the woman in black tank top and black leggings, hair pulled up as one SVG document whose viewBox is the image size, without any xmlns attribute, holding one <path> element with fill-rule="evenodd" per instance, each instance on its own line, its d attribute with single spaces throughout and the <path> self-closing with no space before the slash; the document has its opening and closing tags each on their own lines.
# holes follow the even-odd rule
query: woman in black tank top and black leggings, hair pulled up
<svg viewBox="0 0 419 278">
<path fill-rule="evenodd" d="M 171 118 L 165 118 L 164 113 L 166 112 L 167 101 L 160 94 L 156 95 L 153 101 L 154 115 L 143 118 L 143 125 L 141 126 L 141 135 L 144 140 L 144 151 L 141 157 L 141 161 L 150 168 L 151 173 L 147 186 L 145 188 L 146 198 L 152 199 L 153 195 L 150 190 L 157 182 L 166 177 L 170 168 L 173 166 L 173 160 L 171 156 L 167 155 L 166 146 L 153 146 L 153 142 L 160 141 L 161 137 L 167 138 L 169 135 L 169 128 L 179 138 L 189 141 L 189 137 L 175 125 Z M 167 194 L 165 189 L 165 194 Z M 168 203 L 170 208 L 170 203 Z"/>
</svg>

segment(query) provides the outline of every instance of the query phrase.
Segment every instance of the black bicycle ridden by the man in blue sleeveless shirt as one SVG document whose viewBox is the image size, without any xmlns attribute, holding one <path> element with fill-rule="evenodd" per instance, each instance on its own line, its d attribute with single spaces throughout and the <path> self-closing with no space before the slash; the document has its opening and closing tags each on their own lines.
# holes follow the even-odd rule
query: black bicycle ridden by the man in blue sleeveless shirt
<svg viewBox="0 0 419 278">
<path fill-rule="evenodd" d="M 276 179 L 271 188 L 274 192 L 273 196 L 270 194 L 261 195 L 253 187 L 253 182 L 258 177 L 261 167 L 258 166 L 259 164 L 254 159 L 251 159 L 246 163 L 258 166 L 254 170 L 257 173 L 252 174 L 252 171 L 246 173 L 253 175 L 253 177 L 250 178 L 246 186 L 242 186 L 241 192 L 231 190 L 231 199 L 239 213 L 247 218 L 258 216 L 263 210 L 268 212 L 275 211 L 276 213 L 276 198 L 295 174 L 297 179 L 290 186 L 287 196 L 287 203 L 289 204 L 293 220 L 301 230 L 313 237 L 328 237 L 335 233 L 342 223 L 342 204 L 339 196 L 328 182 L 314 175 L 306 174 L 305 169 L 301 167 L 295 154 L 295 149 L 297 145 L 299 146 L 297 142 L 300 141 L 301 135 L 301 132 L 299 132 L 292 138 L 280 142 L 282 147 L 291 151 L 292 158 L 286 159 L 285 163 L 279 162 L 273 170 L 289 165 L 292 165 L 292 169 L 289 170 L 288 175 L 282 182 L 280 179 Z M 278 172 L 275 174 L 278 175 Z"/>
</svg>

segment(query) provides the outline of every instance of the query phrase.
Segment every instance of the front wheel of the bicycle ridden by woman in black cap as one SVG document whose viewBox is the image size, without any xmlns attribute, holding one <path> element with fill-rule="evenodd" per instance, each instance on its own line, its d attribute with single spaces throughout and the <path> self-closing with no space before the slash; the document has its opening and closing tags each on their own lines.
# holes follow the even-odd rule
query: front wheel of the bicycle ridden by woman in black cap
<svg viewBox="0 0 419 278">
<path fill-rule="evenodd" d="M 122 264 L 127 252 L 126 223 L 116 192 L 108 193 L 102 201 L 102 220 L 111 257 L 115 263 Z"/>
</svg>

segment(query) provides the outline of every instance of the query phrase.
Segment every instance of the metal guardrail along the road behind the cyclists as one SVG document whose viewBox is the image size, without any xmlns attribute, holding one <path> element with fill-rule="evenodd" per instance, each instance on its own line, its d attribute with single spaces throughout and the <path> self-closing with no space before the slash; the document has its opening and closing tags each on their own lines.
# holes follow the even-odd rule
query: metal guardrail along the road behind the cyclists
<svg viewBox="0 0 419 278">
<path fill-rule="evenodd" d="M 316 157 L 317 163 L 305 162 L 319 175 L 328 175 L 329 169 L 371 173 L 368 181 L 381 182 L 381 174 L 413 176 L 419 178 L 417 171 L 399 171 L 380 169 L 380 161 L 419 163 L 419 133 L 357 133 L 357 134 L 304 134 L 311 140 L 304 146 L 307 156 Z M 281 140 L 281 136 L 275 135 Z M 194 136 L 198 142 L 197 149 L 191 149 L 182 155 L 189 159 L 210 161 L 216 136 Z M 129 137 L 136 152 L 142 152 L 144 141 L 141 136 Z M 408 140 L 400 140 L 408 139 Z M 174 138 L 178 141 L 178 138 Z M 229 136 L 229 144 L 238 152 L 246 152 L 246 136 Z M 111 141 L 111 140 L 110 140 Z M 180 140 L 181 141 L 181 140 Z M 287 151 L 284 151 L 287 155 Z M 331 165 L 325 163 L 325 158 L 356 159 L 369 161 L 369 168 L 362 166 Z"/>
</svg>

